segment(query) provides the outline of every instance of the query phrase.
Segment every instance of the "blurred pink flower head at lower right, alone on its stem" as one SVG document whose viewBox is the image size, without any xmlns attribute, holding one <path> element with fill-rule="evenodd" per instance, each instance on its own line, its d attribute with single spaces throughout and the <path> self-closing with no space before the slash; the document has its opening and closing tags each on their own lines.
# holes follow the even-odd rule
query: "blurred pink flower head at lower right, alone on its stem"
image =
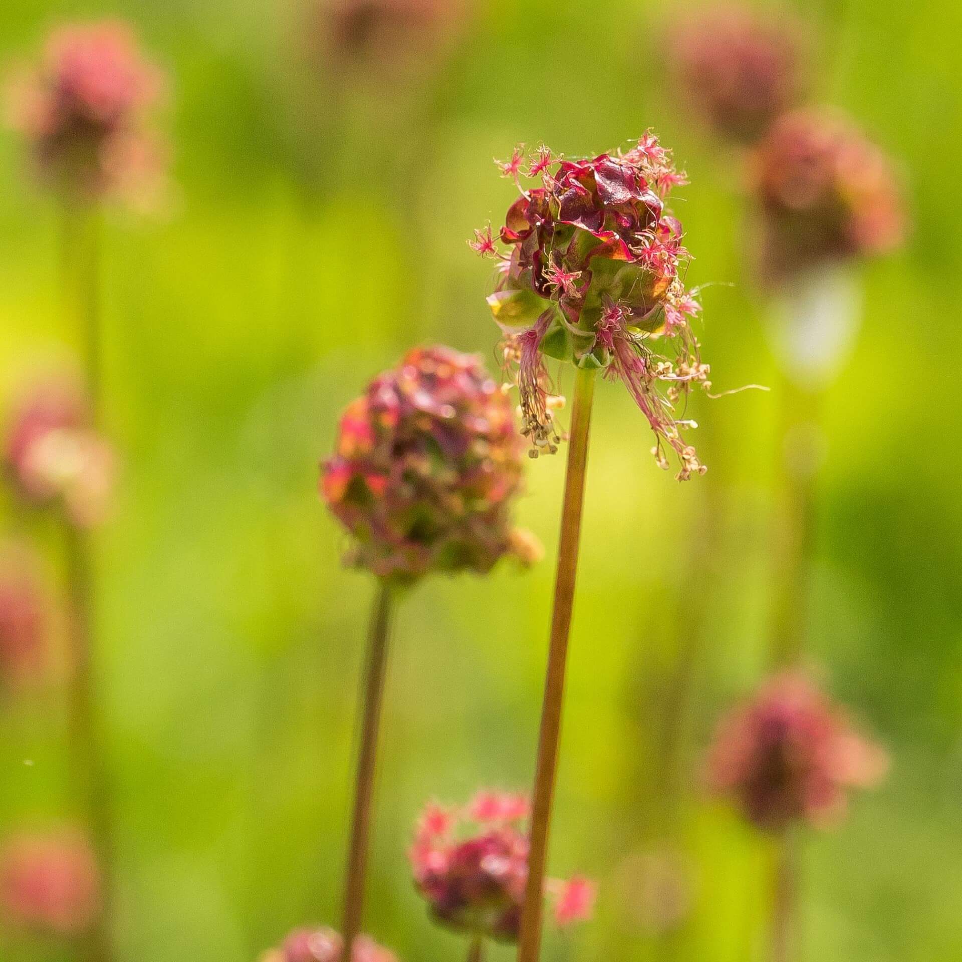
<svg viewBox="0 0 962 962">
<path fill-rule="evenodd" d="M 708 774 L 713 789 L 734 797 L 750 822 L 780 831 L 799 821 L 837 820 L 848 790 L 872 787 L 887 765 L 881 748 L 857 734 L 810 681 L 786 673 L 722 722 Z"/>
</svg>

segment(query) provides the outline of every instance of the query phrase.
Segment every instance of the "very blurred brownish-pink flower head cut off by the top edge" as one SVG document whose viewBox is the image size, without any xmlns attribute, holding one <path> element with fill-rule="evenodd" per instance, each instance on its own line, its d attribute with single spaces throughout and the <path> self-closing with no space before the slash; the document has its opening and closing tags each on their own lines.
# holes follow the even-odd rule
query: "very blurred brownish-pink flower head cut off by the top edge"
<svg viewBox="0 0 962 962">
<path fill-rule="evenodd" d="M 329 70 L 396 76 L 422 65 L 466 15 L 464 0 L 313 0 L 318 56 Z"/>
</svg>

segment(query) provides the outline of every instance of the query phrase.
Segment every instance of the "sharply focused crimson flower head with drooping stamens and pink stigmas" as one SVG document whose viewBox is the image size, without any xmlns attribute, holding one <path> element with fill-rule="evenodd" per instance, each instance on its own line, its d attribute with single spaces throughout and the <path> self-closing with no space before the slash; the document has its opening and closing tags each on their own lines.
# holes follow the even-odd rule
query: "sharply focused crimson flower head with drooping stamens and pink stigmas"
<svg viewBox="0 0 962 962">
<path fill-rule="evenodd" d="M 703 472 L 682 437 L 693 425 L 674 413 L 693 384 L 709 383 L 689 322 L 698 305 L 683 281 L 682 226 L 666 208 L 684 174 L 650 133 L 593 160 L 556 159 L 545 147 L 526 159 L 518 150 L 501 169 L 519 198 L 500 231 L 505 252 L 495 255 L 488 304 L 518 368 L 532 453 L 554 451 L 558 440 L 547 356 L 622 381 L 655 433 L 659 463 L 667 464 L 667 447 L 680 479 Z M 525 189 L 523 173 L 536 173 L 541 186 Z M 487 245 L 480 252 L 490 253 Z"/>
</svg>

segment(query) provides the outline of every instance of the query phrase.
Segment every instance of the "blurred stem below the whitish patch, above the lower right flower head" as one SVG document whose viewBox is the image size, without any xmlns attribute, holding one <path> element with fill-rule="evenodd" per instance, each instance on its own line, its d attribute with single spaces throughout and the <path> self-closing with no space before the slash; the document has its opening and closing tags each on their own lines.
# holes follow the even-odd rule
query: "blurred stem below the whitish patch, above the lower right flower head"
<svg viewBox="0 0 962 962">
<path fill-rule="evenodd" d="M 788 379 L 782 396 L 772 663 L 775 668 L 791 668 L 801 658 L 809 629 L 821 396 Z"/>
</svg>

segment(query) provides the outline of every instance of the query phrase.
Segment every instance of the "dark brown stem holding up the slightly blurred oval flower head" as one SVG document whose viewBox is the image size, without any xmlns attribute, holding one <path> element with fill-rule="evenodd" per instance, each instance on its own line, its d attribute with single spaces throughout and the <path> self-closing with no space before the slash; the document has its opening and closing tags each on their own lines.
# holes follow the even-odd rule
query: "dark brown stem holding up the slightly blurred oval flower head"
<svg viewBox="0 0 962 962">
<path fill-rule="evenodd" d="M 347 849 L 347 869 L 344 874 L 342 957 L 347 960 L 351 958 L 352 946 L 361 931 L 364 916 L 371 801 L 377 770 L 377 740 L 381 723 L 381 707 L 384 703 L 384 682 L 388 668 L 393 607 L 392 588 L 387 582 L 382 581 L 374 598 L 367 638 L 361 742 L 354 781 L 354 808 L 351 816 L 350 843 Z"/>
</svg>

